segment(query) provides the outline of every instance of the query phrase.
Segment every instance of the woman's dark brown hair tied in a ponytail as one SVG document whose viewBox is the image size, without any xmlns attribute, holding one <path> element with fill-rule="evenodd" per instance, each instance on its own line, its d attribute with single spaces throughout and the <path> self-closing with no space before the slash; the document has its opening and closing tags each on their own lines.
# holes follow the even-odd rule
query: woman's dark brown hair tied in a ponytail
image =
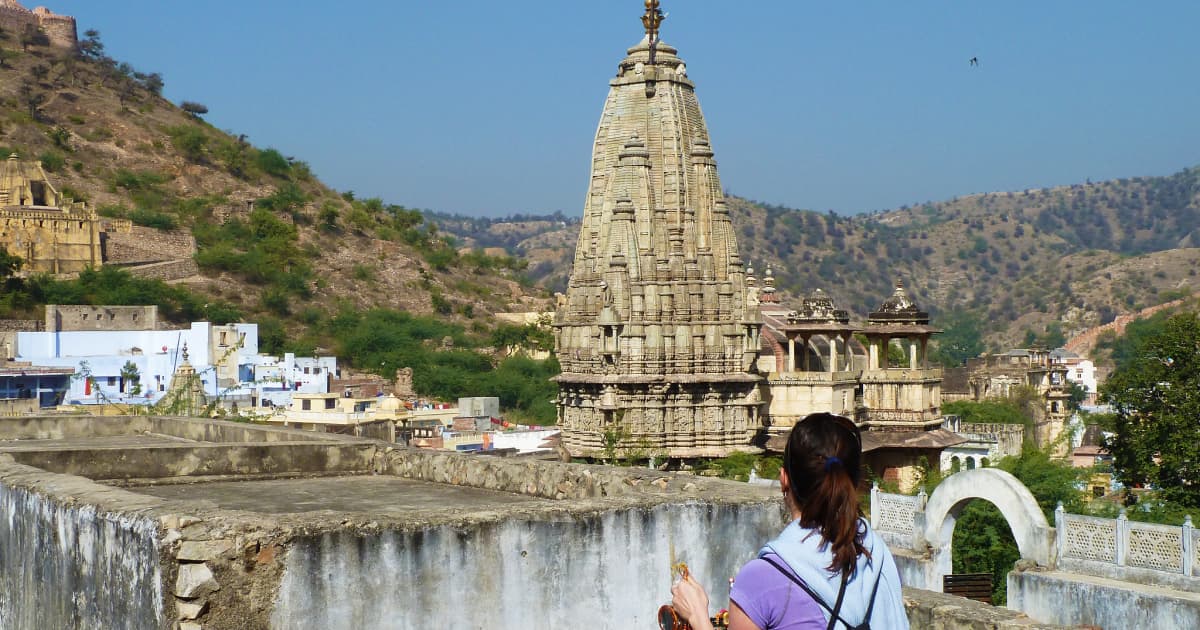
<svg viewBox="0 0 1200 630">
<path fill-rule="evenodd" d="M 853 572 L 865 529 L 858 499 L 863 480 L 862 436 L 848 418 L 811 414 L 796 422 L 784 448 L 784 469 L 800 527 L 821 533 L 833 550 L 834 572 Z"/>
</svg>

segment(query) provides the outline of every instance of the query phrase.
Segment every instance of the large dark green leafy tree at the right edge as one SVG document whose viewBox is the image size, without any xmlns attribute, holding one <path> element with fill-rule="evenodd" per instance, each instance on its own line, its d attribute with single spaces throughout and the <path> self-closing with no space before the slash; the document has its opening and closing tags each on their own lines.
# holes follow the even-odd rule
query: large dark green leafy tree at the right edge
<svg viewBox="0 0 1200 630">
<path fill-rule="evenodd" d="M 1200 317 L 1171 317 L 1139 338 L 1100 396 L 1115 413 L 1105 448 L 1118 479 L 1200 506 Z"/>
</svg>

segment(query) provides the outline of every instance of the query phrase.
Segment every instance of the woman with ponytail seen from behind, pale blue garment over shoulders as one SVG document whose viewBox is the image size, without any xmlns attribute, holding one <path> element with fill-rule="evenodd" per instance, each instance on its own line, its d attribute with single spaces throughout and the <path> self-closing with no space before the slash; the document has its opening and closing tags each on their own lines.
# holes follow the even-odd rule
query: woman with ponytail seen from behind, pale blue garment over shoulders
<svg viewBox="0 0 1200 630">
<path fill-rule="evenodd" d="M 895 560 L 862 516 L 862 455 L 858 427 L 846 418 L 812 414 L 792 427 L 779 472 L 792 522 L 733 580 L 731 629 L 908 628 Z M 691 628 L 712 628 L 695 580 L 671 594 Z"/>
</svg>

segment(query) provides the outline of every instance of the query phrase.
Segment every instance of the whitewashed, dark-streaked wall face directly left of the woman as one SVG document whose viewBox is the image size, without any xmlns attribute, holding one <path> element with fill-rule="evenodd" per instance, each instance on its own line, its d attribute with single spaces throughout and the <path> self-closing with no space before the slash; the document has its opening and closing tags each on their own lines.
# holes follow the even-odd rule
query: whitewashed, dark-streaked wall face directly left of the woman
<svg viewBox="0 0 1200 630">
<path fill-rule="evenodd" d="M 714 602 L 727 601 L 728 576 L 779 528 L 774 505 L 665 504 L 331 533 L 288 551 L 271 626 L 654 628 L 671 599 L 672 553 L 713 587 Z"/>
</svg>

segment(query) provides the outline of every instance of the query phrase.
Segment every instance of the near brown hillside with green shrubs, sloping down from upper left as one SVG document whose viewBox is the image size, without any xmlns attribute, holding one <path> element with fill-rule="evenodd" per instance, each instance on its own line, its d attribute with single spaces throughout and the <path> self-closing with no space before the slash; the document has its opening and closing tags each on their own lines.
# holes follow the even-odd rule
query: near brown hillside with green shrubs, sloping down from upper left
<svg viewBox="0 0 1200 630">
<path fill-rule="evenodd" d="M 168 280 L 224 317 L 317 347 L 317 324 L 346 306 L 476 331 L 492 312 L 544 306 L 514 260 L 460 252 L 419 211 L 337 193 L 305 162 L 214 128 L 202 104 L 166 101 L 162 77 L 108 58 L 94 31 L 80 49 L 0 34 L 0 151 L 40 160 L 66 196 L 131 220 L 130 257 L 170 242 L 194 259 Z"/>
</svg>

